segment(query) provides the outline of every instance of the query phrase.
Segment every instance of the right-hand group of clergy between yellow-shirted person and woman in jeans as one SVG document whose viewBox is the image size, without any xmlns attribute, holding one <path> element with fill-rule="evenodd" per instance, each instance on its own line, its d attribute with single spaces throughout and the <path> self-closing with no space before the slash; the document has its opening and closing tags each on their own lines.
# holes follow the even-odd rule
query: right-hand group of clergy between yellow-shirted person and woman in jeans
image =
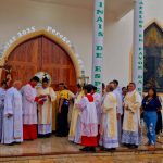
<svg viewBox="0 0 163 163">
<path fill-rule="evenodd" d="M 141 97 L 136 85 L 130 83 L 128 89 L 118 87 L 113 80 L 104 86 L 102 92 L 97 87 L 78 85 L 78 92 L 72 113 L 68 139 L 84 146 L 82 151 L 112 151 L 120 145 L 138 148 L 140 131 Z"/>
</svg>

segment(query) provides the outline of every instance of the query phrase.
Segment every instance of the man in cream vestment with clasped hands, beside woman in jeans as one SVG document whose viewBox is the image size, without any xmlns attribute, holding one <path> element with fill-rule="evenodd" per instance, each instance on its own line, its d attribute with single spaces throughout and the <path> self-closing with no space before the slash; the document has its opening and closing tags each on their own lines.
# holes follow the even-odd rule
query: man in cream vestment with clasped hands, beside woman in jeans
<svg viewBox="0 0 163 163">
<path fill-rule="evenodd" d="M 140 106 L 141 97 L 136 85 L 128 85 L 128 93 L 124 99 L 124 122 L 122 143 L 128 148 L 138 148 L 140 143 Z"/>
</svg>

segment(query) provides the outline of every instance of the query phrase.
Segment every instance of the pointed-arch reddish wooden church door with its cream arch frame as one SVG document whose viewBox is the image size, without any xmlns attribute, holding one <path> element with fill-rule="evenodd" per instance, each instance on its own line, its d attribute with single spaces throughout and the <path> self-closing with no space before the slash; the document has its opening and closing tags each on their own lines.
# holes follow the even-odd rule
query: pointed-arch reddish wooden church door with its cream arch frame
<svg viewBox="0 0 163 163">
<path fill-rule="evenodd" d="M 52 86 L 64 82 L 72 90 L 80 76 L 80 68 L 71 48 L 46 30 L 34 32 L 17 39 L 3 54 L 1 65 L 12 66 L 13 79 L 27 83 L 37 72 L 52 76 Z M 24 74 L 24 75 L 23 75 Z M 3 76 L 3 73 L 1 74 Z"/>
</svg>

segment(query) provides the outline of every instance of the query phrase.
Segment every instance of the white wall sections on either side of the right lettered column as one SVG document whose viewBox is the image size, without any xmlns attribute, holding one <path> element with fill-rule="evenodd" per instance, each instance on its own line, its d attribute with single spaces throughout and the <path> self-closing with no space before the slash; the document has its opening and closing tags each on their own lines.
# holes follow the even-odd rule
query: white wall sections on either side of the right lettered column
<svg viewBox="0 0 163 163">
<path fill-rule="evenodd" d="M 163 0 L 145 0 L 145 26 L 156 20 L 163 27 Z M 129 53 L 133 47 L 133 14 L 129 12 L 117 23 L 106 22 L 104 82 L 117 78 L 121 86 L 130 79 Z"/>
</svg>

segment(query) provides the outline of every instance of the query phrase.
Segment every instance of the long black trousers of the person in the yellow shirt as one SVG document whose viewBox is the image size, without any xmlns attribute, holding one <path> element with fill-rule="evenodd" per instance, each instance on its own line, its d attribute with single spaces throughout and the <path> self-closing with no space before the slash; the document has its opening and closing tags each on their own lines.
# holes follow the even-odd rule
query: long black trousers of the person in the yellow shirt
<svg viewBox="0 0 163 163">
<path fill-rule="evenodd" d="M 68 105 L 62 105 L 61 113 L 58 113 L 57 118 L 57 134 L 59 136 L 67 136 L 68 135 Z"/>
</svg>

